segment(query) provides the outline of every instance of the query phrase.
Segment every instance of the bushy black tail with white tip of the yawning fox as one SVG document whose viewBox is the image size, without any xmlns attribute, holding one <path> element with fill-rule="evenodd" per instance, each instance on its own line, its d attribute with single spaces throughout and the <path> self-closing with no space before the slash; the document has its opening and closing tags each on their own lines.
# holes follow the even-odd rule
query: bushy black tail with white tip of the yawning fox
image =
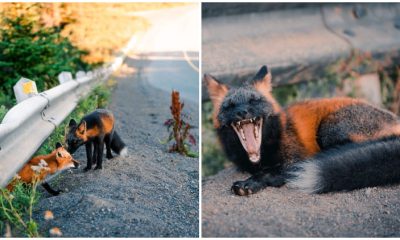
<svg viewBox="0 0 400 240">
<path fill-rule="evenodd" d="M 400 137 L 350 143 L 297 162 L 287 184 L 307 193 L 326 193 L 400 182 Z"/>
</svg>

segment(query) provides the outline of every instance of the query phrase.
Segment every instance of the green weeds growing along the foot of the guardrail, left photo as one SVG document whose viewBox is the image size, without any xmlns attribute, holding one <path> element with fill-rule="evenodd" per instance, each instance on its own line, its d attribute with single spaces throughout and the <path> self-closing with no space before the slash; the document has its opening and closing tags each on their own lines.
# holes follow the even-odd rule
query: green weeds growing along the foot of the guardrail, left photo
<svg viewBox="0 0 400 240">
<path fill-rule="evenodd" d="M 65 144 L 65 129 L 70 119 L 79 120 L 96 108 L 106 108 L 114 84 L 115 81 L 109 80 L 106 84 L 97 86 L 89 96 L 81 100 L 77 108 L 56 128 L 34 155 L 48 154 L 54 150 L 56 142 Z M 18 178 L 13 182 L 15 187 L 12 192 L 5 188 L 0 189 L 0 234 L 4 236 L 8 232 L 14 237 L 46 236 L 47 233 L 39 233 L 39 226 L 32 218 L 32 211 L 41 197 L 37 189 L 38 182 L 33 181 L 28 185 Z"/>
</svg>

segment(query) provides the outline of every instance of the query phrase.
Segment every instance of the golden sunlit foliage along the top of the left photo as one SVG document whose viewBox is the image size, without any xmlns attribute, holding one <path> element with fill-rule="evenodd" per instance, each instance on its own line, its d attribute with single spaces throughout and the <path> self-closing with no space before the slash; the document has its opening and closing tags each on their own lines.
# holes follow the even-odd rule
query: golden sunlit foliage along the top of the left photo
<svg viewBox="0 0 400 240">
<path fill-rule="evenodd" d="M 0 12 L 16 16 L 36 11 L 45 26 L 65 25 L 62 35 L 89 52 L 84 61 L 100 64 L 110 61 L 133 34 L 148 27 L 135 12 L 180 5 L 184 3 L 1 3 Z"/>
</svg>

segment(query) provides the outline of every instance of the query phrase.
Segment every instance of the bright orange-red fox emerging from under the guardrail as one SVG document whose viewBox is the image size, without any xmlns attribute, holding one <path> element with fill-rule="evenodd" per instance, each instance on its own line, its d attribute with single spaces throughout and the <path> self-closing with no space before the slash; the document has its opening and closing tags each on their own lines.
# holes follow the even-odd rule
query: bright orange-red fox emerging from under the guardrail
<svg viewBox="0 0 400 240">
<path fill-rule="evenodd" d="M 40 155 L 32 158 L 19 171 L 17 177 L 25 182 L 32 183 L 34 176 L 42 182 L 42 186 L 52 195 L 60 194 L 61 190 L 54 190 L 47 183 L 51 178 L 70 168 L 77 168 L 79 162 L 74 160 L 72 156 L 63 148 L 60 143 L 56 144 L 56 149 L 48 155 Z M 12 191 L 14 183 L 11 182 L 7 189 Z"/>
</svg>

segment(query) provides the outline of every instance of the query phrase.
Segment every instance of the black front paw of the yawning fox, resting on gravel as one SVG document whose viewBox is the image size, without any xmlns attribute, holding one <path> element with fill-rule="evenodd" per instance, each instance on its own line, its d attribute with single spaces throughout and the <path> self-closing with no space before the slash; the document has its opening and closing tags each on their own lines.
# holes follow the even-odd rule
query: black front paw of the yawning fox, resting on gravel
<svg viewBox="0 0 400 240">
<path fill-rule="evenodd" d="M 236 195 L 246 196 L 267 186 L 280 187 L 283 184 L 285 184 L 285 176 L 282 174 L 282 170 L 280 168 L 269 169 L 255 173 L 244 181 L 234 182 L 231 191 Z"/>
</svg>

